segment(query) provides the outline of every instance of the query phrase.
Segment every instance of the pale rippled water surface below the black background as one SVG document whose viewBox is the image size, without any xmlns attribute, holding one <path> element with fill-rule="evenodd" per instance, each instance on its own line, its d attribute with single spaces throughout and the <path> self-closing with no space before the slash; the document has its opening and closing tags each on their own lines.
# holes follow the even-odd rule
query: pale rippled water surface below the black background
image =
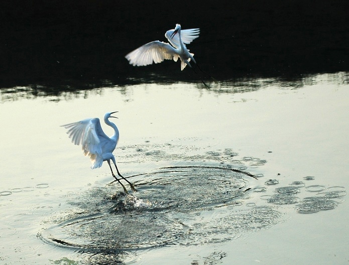
<svg viewBox="0 0 349 265">
<path fill-rule="evenodd" d="M 348 76 L 2 88 L 0 260 L 345 263 Z M 115 110 L 134 196 L 59 127 Z"/>
</svg>

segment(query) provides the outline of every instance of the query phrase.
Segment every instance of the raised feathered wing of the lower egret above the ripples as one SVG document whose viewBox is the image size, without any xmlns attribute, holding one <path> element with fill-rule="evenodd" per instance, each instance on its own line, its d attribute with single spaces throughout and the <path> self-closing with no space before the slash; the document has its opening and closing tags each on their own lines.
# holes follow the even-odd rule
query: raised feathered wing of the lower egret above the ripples
<svg viewBox="0 0 349 265">
<path fill-rule="evenodd" d="M 93 163 L 91 168 L 102 166 L 101 142 L 109 139 L 103 132 L 99 118 L 88 118 L 78 122 L 62 125 L 68 129 L 67 134 L 74 145 L 81 145 L 85 156 Z"/>
</svg>

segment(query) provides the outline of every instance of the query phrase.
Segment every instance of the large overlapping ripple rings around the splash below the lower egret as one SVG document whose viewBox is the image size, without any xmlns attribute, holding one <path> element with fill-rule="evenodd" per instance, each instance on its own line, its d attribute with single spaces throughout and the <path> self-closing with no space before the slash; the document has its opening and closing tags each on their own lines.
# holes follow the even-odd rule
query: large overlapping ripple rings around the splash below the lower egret
<svg viewBox="0 0 349 265">
<path fill-rule="evenodd" d="M 163 168 L 133 180 L 138 192 L 118 192 L 118 183 L 71 198 L 76 214 L 43 231 L 47 243 L 92 253 L 115 253 L 167 244 L 223 242 L 266 229 L 280 214 L 247 203 L 250 176 L 219 167 Z M 214 218 L 213 218 L 214 217 Z M 218 218 L 217 218 L 218 217 Z"/>
</svg>

